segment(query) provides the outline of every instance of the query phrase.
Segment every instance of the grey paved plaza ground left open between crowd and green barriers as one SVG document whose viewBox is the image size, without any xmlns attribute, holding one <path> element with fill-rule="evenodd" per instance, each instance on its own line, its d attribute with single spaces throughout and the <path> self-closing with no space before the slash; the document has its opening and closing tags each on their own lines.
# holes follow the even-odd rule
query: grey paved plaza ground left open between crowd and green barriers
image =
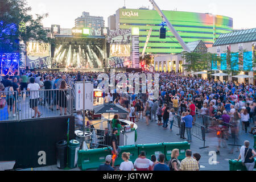
<svg viewBox="0 0 256 182">
<path fill-rule="evenodd" d="M 196 122 L 200 123 L 201 119 L 196 118 Z M 172 127 L 173 131 L 170 131 L 170 123 L 167 130 L 164 130 L 162 126 L 156 125 L 156 122 L 150 122 L 150 125 L 146 125 L 145 118 L 140 119 L 137 122 L 138 129 L 137 129 L 137 142 L 136 144 L 147 144 L 147 143 L 161 143 L 161 142 L 181 142 L 185 139 L 181 139 L 177 133 L 179 133 L 179 128 L 176 126 Z M 241 128 L 241 126 L 240 126 Z M 187 138 L 187 133 L 185 133 L 185 137 Z M 250 147 L 253 147 L 253 135 L 252 134 L 245 134 L 244 131 L 240 129 L 239 135 L 240 141 L 238 144 L 243 144 L 244 140 L 249 140 L 251 143 Z M 234 148 L 233 154 L 229 154 L 232 146 L 228 146 L 224 148 L 223 146 L 220 148 L 220 154 L 217 155 L 217 160 L 213 164 L 209 164 L 209 155 L 210 151 L 216 151 L 216 147 L 218 145 L 218 140 L 216 137 L 216 132 L 211 131 L 210 133 L 206 134 L 205 139 L 205 146 L 209 146 L 209 148 L 200 149 L 203 147 L 203 140 L 192 136 L 191 142 L 191 150 L 193 153 L 198 152 L 201 155 L 200 159 L 200 170 L 201 171 L 228 171 L 229 170 L 229 159 L 237 159 L 239 152 L 237 152 L 237 148 Z M 226 140 L 226 144 L 232 144 L 234 141 L 232 138 Z M 59 170 L 56 166 L 48 166 L 48 167 L 40 167 L 34 168 L 34 171 L 56 171 Z M 80 168 L 71 169 L 72 171 L 79 171 Z"/>
</svg>

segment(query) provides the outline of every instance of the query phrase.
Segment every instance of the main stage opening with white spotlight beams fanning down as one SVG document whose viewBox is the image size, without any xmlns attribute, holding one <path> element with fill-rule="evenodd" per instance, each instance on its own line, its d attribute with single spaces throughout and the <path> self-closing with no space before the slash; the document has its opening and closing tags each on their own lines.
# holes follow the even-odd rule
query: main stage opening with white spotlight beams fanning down
<svg viewBox="0 0 256 182">
<path fill-rule="evenodd" d="M 56 36 L 55 45 L 53 64 L 56 68 L 104 67 L 106 39 L 103 36 Z"/>
</svg>

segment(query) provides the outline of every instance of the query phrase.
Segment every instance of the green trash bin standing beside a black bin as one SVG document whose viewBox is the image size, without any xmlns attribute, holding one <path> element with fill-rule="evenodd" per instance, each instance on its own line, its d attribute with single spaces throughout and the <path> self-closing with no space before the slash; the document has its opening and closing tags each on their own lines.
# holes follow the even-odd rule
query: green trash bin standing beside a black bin
<svg viewBox="0 0 256 182">
<path fill-rule="evenodd" d="M 70 140 L 68 143 L 68 167 L 73 169 L 77 165 L 80 143 L 77 140 Z"/>
</svg>

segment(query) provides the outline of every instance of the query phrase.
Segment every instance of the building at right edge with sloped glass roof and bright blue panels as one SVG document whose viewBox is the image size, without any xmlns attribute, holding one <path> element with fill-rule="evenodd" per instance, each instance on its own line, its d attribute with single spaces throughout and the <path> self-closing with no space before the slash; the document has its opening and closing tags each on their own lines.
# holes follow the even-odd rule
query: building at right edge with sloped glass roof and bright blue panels
<svg viewBox="0 0 256 182">
<path fill-rule="evenodd" d="M 240 75 L 252 77 L 245 80 L 238 78 L 236 81 L 249 81 L 251 84 L 256 84 L 256 80 L 253 78 L 256 76 L 254 67 L 256 60 L 256 28 L 222 34 L 213 44 L 213 47 L 208 48 L 208 52 L 216 53 L 222 60 L 220 65 L 213 64 L 213 69 L 225 72 L 228 66 L 226 60 L 228 51 L 231 52 L 232 56 L 230 63 L 235 65 L 232 68 L 239 71 Z M 240 55 L 240 58 L 238 55 Z M 220 78 L 220 80 L 222 79 Z M 232 76 L 229 76 L 228 79 L 232 80 Z"/>
</svg>

